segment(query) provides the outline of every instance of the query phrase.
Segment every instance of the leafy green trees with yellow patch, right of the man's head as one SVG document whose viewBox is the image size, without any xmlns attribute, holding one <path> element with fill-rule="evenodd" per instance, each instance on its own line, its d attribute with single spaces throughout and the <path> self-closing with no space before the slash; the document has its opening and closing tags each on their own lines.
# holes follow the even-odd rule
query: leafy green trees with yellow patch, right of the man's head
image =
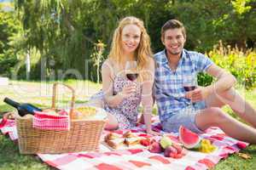
<svg viewBox="0 0 256 170">
<path fill-rule="evenodd" d="M 195 0 L 177 1 L 168 9 L 187 28 L 186 47 L 205 52 L 219 40 L 232 47 L 237 44 L 241 48 L 253 48 L 256 41 L 255 8 L 253 0 Z"/>
</svg>

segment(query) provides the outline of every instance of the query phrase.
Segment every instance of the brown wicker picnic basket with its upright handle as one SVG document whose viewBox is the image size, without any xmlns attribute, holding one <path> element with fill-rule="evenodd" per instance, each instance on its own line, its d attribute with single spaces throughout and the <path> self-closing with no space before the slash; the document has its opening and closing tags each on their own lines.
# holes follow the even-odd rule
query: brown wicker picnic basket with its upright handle
<svg viewBox="0 0 256 170">
<path fill-rule="evenodd" d="M 106 120 L 73 120 L 74 90 L 56 82 L 53 86 L 51 109 L 55 110 L 56 88 L 62 84 L 72 91 L 69 131 L 42 130 L 32 127 L 32 116 L 16 116 L 20 154 L 68 153 L 98 150 Z"/>
</svg>

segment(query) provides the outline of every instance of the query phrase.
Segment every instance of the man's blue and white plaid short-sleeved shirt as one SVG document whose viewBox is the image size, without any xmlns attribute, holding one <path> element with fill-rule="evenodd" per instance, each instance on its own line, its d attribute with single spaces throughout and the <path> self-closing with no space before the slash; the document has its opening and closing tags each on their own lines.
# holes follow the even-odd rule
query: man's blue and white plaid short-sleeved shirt
<svg viewBox="0 0 256 170">
<path fill-rule="evenodd" d="M 195 79 L 197 73 L 206 71 L 212 60 L 206 55 L 183 49 L 176 71 L 172 71 L 166 58 L 166 50 L 154 54 L 155 77 L 154 95 L 158 106 L 160 121 L 170 118 L 177 111 L 190 104 L 184 98 L 183 82 Z"/>
</svg>

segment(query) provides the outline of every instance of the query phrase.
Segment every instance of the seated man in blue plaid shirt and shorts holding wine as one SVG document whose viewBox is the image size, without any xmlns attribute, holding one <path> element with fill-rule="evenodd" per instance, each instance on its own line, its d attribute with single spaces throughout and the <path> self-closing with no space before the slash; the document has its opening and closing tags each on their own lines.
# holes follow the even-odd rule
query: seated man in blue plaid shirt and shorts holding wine
<svg viewBox="0 0 256 170">
<path fill-rule="evenodd" d="M 186 31 L 178 20 L 166 22 L 161 29 L 161 41 L 165 50 L 154 54 L 154 92 L 163 129 L 177 132 L 183 125 L 201 133 L 217 126 L 233 138 L 256 144 L 256 111 L 232 88 L 236 78 L 204 54 L 184 49 Z M 202 71 L 216 77 L 217 82 L 186 92 L 183 84 L 195 82 L 197 73 Z M 224 105 L 230 105 L 254 128 L 225 114 L 220 109 Z"/>
</svg>

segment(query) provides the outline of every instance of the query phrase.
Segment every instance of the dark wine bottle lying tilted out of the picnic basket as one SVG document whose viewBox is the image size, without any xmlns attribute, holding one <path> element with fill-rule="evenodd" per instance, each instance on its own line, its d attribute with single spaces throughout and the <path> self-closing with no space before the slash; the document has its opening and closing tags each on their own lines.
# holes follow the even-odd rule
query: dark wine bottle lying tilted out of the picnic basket
<svg viewBox="0 0 256 170">
<path fill-rule="evenodd" d="M 18 110 L 18 113 L 20 116 L 25 116 L 26 114 L 32 114 L 34 115 L 34 111 L 42 111 L 38 107 L 31 105 L 31 104 L 20 104 L 18 102 L 15 102 L 12 99 L 4 98 L 3 101 L 7 103 L 8 105 L 11 105 L 15 107 Z"/>
</svg>

